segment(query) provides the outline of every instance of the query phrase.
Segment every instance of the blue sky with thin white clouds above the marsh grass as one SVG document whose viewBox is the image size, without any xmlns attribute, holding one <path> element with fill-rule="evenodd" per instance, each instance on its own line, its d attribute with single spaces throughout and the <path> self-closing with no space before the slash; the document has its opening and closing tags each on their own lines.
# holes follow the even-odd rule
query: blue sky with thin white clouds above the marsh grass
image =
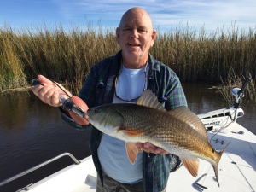
<svg viewBox="0 0 256 192">
<path fill-rule="evenodd" d="M 256 28 L 256 0 L 2 0 L 0 27 L 86 26 L 86 22 L 97 26 L 100 22 L 114 29 L 132 7 L 146 9 L 160 31 L 187 24 L 198 30 L 204 26 L 207 32 L 232 25 Z"/>
</svg>

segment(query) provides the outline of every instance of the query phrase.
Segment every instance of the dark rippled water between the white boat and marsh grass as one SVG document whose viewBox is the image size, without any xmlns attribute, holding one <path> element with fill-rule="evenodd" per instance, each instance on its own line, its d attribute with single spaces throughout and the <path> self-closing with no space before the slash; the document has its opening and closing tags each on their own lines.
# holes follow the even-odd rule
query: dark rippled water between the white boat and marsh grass
<svg viewBox="0 0 256 192">
<path fill-rule="evenodd" d="M 228 107 L 212 84 L 183 84 L 189 108 L 204 113 Z M 238 123 L 256 134 L 255 105 L 243 102 L 245 116 Z M 0 181 L 23 172 L 32 166 L 69 152 L 78 160 L 90 155 L 90 130 L 78 131 L 61 120 L 58 108 L 38 100 L 29 91 L 9 92 L 0 95 Z M 0 191 L 15 191 L 27 184 L 49 176 L 73 164 L 63 157 L 0 187 Z"/>
</svg>

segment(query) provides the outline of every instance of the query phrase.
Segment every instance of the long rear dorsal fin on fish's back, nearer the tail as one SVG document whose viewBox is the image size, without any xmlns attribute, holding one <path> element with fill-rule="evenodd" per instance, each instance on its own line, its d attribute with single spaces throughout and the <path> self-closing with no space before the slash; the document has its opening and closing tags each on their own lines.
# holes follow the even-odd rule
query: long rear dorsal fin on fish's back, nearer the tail
<svg viewBox="0 0 256 192">
<path fill-rule="evenodd" d="M 207 138 L 207 130 L 202 124 L 201 119 L 199 119 L 195 113 L 191 112 L 189 108 L 181 106 L 168 111 L 174 118 L 181 119 L 184 123 L 188 124 L 190 127 L 195 129 L 202 137 Z"/>
</svg>

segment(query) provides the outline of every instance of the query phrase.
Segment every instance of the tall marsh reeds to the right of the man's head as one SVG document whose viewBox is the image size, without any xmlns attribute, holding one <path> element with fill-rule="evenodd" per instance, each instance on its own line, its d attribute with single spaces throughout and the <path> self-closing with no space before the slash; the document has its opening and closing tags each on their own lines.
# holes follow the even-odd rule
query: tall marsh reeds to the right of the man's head
<svg viewBox="0 0 256 192">
<path fill-rule="evenodd" d="M 226 81 L 230 70 L 256 75 L 256 28 L 248 32 L 236 26 L 208 34 L 189 26 L 160 34 L 152 50 L 183 81 Z"/>
</svg>

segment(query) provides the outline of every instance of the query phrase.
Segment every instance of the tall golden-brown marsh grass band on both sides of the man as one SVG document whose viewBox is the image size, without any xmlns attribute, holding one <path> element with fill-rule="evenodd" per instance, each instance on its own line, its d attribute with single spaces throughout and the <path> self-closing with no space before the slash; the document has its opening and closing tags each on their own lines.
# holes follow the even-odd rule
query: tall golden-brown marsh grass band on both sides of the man
<svg viewBox="0 0 256 192">
<path fill-rule="evenodd" d="M 102 29 L 88 23 L 68 30 L 61 25 L 54 29 L 44 25 L 14 31 L 3 26 L 0 92 L 27 87 L 43 74 L 77 94 L 90 67 L 117 51 L 115 30 L 110 27 Z M 227 87 L 238 86 L 243 77 L 251 76 L 247 89 L 255 101 L 256 26 L 247 31 L 234 25 L 211 33 L 204 27 L 196 30 L 189 26 L 160 32 L 150 53 L 171 67 L 182 82 L 213 82 Z"/>
</svg>

